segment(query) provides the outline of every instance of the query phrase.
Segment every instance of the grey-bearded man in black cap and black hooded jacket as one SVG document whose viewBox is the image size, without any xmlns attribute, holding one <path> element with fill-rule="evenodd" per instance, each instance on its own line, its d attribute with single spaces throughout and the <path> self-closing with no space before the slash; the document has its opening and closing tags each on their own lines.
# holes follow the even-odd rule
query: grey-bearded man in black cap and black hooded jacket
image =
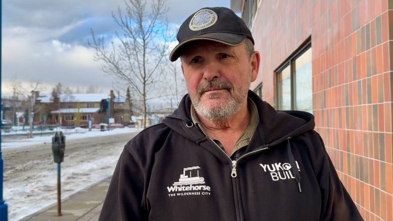
<svg viewBox="0 0 393 221">
<path fill-rule="evenodd" d="M 100 220 L 362 220 L 313 116 L 248 90 L 260 54 L 238 16 L 201 9 L 177 39 L 189 94 L 125 145 Z"/>
</svg>

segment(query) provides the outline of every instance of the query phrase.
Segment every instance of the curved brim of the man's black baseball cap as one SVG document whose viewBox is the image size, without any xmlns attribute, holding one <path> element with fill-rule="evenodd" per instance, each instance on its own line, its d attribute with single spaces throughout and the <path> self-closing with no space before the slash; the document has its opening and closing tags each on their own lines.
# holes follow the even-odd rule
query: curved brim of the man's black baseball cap
<svg viewBox="0 0 393 221">
<path fill-rule="evenodd" d="M 238 35 L 233 33 L 224 33 L 224 32 L 214 32 L 214 33 L 207 33 L 203 35 L 199 35 L 194 38 L 189 38 L 187 40 L 182 41 L 175 48 L 173 48 L 172 52 L 169 55 L 170 61 L 175 61 L 177 58 L 180 57 L 184 50 L 184 46 L 192 41 L 200 41 L 200 40 L 208 40 L 208 41 L 216 41 L 230 46 L 237 46 L 241 44 L 244 39 L 246 38 L 245 35 Z"/>
</svg>

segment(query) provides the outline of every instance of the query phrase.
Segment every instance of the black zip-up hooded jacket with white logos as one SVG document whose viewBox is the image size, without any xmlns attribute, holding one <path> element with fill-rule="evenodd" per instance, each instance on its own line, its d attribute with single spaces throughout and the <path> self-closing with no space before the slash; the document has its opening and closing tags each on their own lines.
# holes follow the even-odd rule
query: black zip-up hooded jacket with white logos
<svg viewBox="0 0 393 221">
<path fill-rule="evenodd" d="M 259 124 L 233 159 L 192 124 L 188 95 L 130 140 L 99 220 L 362 220 L 313 115 L 248 97 Z"/>
</svg>

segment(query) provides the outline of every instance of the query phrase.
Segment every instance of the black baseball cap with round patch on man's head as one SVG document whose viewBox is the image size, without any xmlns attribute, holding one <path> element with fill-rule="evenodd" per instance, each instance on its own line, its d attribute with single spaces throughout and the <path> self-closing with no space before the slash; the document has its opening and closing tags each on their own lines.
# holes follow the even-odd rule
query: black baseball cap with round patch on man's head
<svg viewBox="0 0 393 221">
<path fill-rule="evenodd" d="M 171 61 L 177 60 L 184 45 L 192 41 L 210 40 L 237 46 L 249 38 L 254 44 L 251 31 L 244 21 L 225 7 L 203 8 L 193 13 L 181 24 L 176 38 L 179 44 L 169 55 Z"/>
</svg>

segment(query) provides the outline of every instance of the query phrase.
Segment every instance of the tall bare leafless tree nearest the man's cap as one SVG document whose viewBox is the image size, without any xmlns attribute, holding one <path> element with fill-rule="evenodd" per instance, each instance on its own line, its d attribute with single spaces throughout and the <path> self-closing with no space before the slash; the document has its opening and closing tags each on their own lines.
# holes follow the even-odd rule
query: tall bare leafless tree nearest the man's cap
<svg viewBox="0 0 393 221">
<path fill-rule="evenodd" d="M 106 49 L 103 37 L 97 37 L 91 30 L 96 50 L 94 59 L 103 61 L 100 69 L 118 84 L 127 84 L 142 100 L 143 127 L 147 126 L 147 104 L 152 98 L 151 89 L 160 82 L 158 73 L 163 58 L 167 56 L 170 33 L 165 6 L 166 0 L 151 0 L 147 7 L 145 0 L 125 0 L 125 14 L 120 7 L 117 16 L 112 13 L 121 34 L 116 32 L 116 41 Z"/>
</svg>

